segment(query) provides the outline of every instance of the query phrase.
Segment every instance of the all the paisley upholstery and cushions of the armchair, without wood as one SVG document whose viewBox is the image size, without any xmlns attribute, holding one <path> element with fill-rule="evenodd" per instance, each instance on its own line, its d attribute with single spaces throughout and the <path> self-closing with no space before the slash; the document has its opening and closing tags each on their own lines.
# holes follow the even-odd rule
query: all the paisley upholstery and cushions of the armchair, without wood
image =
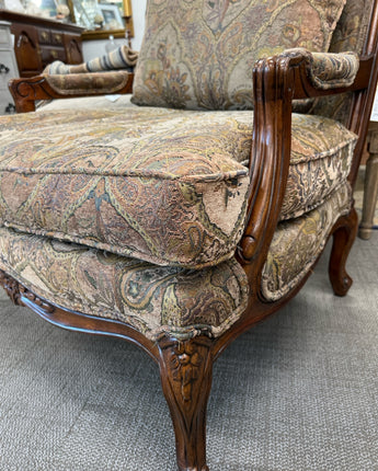
<svg viewBox="0 0 378 471">
<path fill-rule="evenodd" d="M 365 1 L 348 2 L 334 32 L 344 3 L 149 0 L 134 104 L 1 119 L 0 269 L 62 308 L 125 322 L 152 341 L 224 334 L 250 295 L 234 251 L 250 196 L 252 65 L 300 47 L 314 87 L 350 84 L 366 27 L 353 19 Z M 46 73 L 71 90 L 79 76 L 136 60 L 117 54 Z M 96 77 L 111 89 L 111 76 Z M 330 114 L 327 101 L 311 112 Z M 262 274 L 266 301 L 308 274 L 352 204 L 357 137 L 316 114 L 294 114 L 291 133 Z"/>
</svg>

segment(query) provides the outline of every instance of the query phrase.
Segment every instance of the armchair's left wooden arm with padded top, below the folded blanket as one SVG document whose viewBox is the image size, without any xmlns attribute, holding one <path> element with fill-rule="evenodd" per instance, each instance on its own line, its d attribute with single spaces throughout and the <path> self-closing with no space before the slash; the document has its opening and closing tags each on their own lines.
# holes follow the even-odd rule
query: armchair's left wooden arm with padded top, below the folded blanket
<svg viewBox="0 0 378 471">
<path fill-rule="evenodd" d="M 126 94 L 133 91 L 134 73 L 126 71 L 36 76 L 13 79 L 9 90 L 18 113 L 35 111 L 35 101 L 104 94 Z"/>
</svg>

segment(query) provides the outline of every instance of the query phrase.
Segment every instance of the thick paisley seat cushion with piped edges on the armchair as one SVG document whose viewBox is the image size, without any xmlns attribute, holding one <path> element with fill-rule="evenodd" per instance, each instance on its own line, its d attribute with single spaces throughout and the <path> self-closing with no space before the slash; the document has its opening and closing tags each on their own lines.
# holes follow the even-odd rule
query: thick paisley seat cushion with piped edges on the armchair
<svg viewBox="0 0 378 471">
<path fill-rule="evenodd" d="M 1 120 L 0 223 L 159 265 L 232 256 L 244 229 L 252 112 L 46 112 Z M 294 115 L 282 219 L 346 179 L 355 136 Z"/>
</svg>

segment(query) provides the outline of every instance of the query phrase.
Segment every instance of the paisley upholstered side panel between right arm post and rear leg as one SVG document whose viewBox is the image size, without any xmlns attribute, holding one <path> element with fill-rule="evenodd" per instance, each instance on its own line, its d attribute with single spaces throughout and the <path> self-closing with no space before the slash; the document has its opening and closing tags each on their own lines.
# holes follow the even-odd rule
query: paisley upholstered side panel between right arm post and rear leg
<svg viewBox="0 0 378 471">
<path fill-rule="evenodd" d="M 262 292 L 270 301 L 298 285 L 322 252 L 330 231 L 351 210 L 352 188 L 346 182 L 317 209 L 280 222 L 263 269 Z"/>
</svg>

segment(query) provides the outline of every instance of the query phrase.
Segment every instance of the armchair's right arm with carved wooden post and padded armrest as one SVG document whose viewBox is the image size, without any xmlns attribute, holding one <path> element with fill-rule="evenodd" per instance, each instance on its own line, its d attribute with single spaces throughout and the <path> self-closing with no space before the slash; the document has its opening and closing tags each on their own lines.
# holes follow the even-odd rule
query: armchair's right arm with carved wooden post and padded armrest
<svg viewBox="0 0 378 471">
<path fill-rule="evenodd" d="M 332 64 L 336 67 L 325 67 Z M 255 64 L 248 222 L 237 256 L 256 295 L 288 177 L 291 101 L 366 89 L 371 66 L 373 58 L 363 60 L 357 72 L 354 55 L 314 56 L 305 49 L 290 49 Z"/>
</svg>

